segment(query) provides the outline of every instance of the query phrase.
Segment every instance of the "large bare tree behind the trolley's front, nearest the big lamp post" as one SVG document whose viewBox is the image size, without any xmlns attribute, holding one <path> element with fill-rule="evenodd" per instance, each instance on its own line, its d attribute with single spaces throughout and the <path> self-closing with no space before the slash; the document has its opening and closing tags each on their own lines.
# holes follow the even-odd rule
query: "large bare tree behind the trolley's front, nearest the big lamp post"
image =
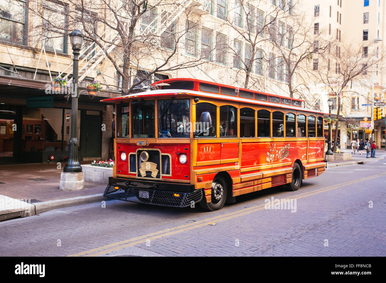
<svg viewBox="0 0 386 283">
<path fill-rule="evenodd" d="M 69 0 L 68 3 L 61 6 L 48 0 L 30 0 L 29 11 L 35 21 L 33 38 L 45 44 L 50 40 L 54 43 L 74 28 L 80 29 L 85 36 L 82 53 L 92 57 L 80 69 L 82 79 L 107 58 L 122 77 L 122 94 L 126 95 L 159 72 L 195 67 L 203 64 L 202 59 L 207 56 L 199 54 L 189 41 L 200 23 L 196 7 L 188 5 L 191 1 Z M 60 17 L 55 12 L 58 7 Z M 177 55 L 183 45 L 194 54 L 178 62 Z"/>
</svg>

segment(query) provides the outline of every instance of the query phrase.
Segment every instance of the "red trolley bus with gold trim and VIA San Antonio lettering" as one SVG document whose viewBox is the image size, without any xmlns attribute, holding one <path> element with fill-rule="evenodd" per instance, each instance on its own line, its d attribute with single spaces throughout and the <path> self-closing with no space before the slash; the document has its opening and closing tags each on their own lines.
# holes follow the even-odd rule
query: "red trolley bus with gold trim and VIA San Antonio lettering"
<svg viewBox="0 0 386 283">
<path fill-rule="evenodd" d="M 196 79 L 167 79 L 115 103 L 116 166 L 104 195 L 209 211 L 235 196 L 325 170 L 324 113 L 302 100 Z"/>
</svg>

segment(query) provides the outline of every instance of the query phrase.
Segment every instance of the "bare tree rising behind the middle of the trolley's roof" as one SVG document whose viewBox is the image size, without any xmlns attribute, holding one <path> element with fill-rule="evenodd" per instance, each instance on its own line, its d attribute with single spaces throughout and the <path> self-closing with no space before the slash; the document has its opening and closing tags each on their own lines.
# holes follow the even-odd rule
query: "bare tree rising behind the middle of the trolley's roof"
<svg viewBox="0 0 386 283">
<path fill-rule="evenodd" d="M 268 8 L 266 8 L 268 7 Z M 286 21 L 291 17 L 294 5 L 288 5 L 287 1 L 278 1 L 278 5 L 266 5 L 266 1 L 235 0 L 234 7 L 222 12 L 217 17 L 224 20 L 224 27 L 230 27 L 235 37 L 226 49 L 230 51 L 233 60 L 231 68 L 238 69 L 236 80 L 244 88 L 261 87 L 264 78 L 254 77 L 251 74 L 263 75 L 263 61 L 267 61 L 264 45 L 267 40 L 276 34 L 271 30 L 276 28 L 276 23 Z M 219 13 L 219 12 L 218 12 Z M 241 50 L 245 43 L 245 60 L 242 60 Z"/>
</svg>

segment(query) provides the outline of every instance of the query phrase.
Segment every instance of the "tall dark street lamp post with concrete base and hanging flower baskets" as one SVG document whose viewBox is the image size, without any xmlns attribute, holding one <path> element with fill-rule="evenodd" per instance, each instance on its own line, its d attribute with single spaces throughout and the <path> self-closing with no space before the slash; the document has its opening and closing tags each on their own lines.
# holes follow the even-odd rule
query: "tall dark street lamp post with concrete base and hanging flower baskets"
<svg viewBox="0 0 386 283">
<path fill-rule="evenodd" d="M 80 30 L 74 30 L 69 34 L 73 49 L 73 84 L 71 89 L 71 136 L 68 141 L 69 157 L 63 168 L 60 180 L 60 189 L 79 190 L 84 188 L 82 166 L 78 161 L 78 61 L 83 43 L 83 34 Z"/>
</svg>

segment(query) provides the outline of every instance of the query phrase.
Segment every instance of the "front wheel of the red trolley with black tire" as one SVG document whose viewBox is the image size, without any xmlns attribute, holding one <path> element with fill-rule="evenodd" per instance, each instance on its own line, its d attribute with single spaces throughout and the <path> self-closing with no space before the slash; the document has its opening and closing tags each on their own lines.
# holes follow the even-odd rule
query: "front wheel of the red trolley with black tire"
<svg viewBox="0 0 386 283">
<path fill-rule="evenodd" d="M 205 196 L 200 201 L 200 206 L 207 211 L 221 209 L 227 199 L 227 182 L 224 178 L 216 176 L 212 181 L 212 201 L 207 203 Z"/>
</svg>

